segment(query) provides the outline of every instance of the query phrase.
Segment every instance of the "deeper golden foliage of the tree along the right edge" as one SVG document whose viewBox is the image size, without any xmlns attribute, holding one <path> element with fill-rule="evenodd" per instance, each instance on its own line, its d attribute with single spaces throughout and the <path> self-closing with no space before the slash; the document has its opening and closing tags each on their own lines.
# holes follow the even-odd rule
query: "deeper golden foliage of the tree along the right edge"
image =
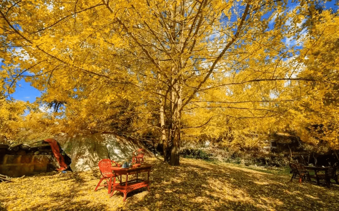
<svg viewBox="0 0 339 211">
<path fill-rule="evenodd" d="M 306 93 L 296 104 L 296 110 L 304 120 L 300 126 L 304 140 L 324 140 L 330 148 L 339 149 L 339 26 L 338 14 L 330 10 L 314 13 L 310 18 L 311 39 L 305 42 L 303 54 L 305 71 L 301 77 L 309 77 L 327 83 L 301 83 L 296 92 Z M 314 20 L 319 20 L 315 22 Z"/>
</svg>

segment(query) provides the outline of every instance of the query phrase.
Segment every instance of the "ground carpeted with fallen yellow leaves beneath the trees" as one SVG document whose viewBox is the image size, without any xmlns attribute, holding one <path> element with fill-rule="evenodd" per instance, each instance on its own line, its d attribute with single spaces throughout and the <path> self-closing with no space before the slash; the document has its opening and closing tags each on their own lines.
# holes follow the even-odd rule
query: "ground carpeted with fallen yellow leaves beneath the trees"
<svg viewBox="0 0 339 211">
<path fill-rule="evenodd" d="M 99 170 L 51 172 L 0 183 L 0 210 L 338 210 L 339 186 L 290 182 L 282 170 L 250 169 L 232 164 L 181 158 L 171 167 L 156 158 L 146 188 L 109 198 L 94 192 Z M 142 175 L 146 176 L 146 175 Z"/>
</svg>

